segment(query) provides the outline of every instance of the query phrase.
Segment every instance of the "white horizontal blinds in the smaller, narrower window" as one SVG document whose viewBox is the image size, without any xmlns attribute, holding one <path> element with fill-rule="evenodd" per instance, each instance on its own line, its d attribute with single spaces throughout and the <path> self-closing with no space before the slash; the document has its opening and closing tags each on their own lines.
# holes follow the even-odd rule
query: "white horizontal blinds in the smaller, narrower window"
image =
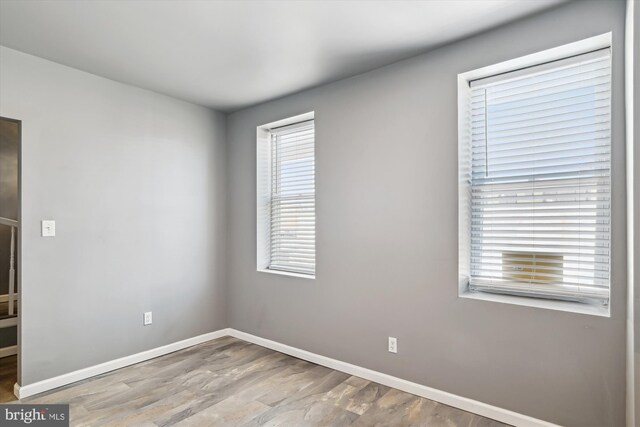
<svg viewBox="0 0 640 427">
<path fill-rule="evenodd" d="M 314 121 L 270 130 L 269 269 L 315 274 Z"/>
</svg>

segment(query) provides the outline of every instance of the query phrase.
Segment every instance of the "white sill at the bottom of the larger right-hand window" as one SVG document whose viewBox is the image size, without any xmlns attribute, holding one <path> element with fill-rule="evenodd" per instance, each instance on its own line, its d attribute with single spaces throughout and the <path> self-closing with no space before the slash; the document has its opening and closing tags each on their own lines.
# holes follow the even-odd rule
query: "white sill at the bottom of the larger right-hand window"
<svg viewBox="0 0 640 427">
<path fill-rule="evenodd" d="M 492 294 L 489 292 L 464 290 L 460 298 L 499 302 L 504 304 L 523 305 L 526 307 L 545 308 L 548 310 L 567 311 L 570 313 L 589 314 L 592 316 L 611 317 L 609 306 L 585 304 L 571 301 L 553 301 L 515 295 Z"/>
</svg>

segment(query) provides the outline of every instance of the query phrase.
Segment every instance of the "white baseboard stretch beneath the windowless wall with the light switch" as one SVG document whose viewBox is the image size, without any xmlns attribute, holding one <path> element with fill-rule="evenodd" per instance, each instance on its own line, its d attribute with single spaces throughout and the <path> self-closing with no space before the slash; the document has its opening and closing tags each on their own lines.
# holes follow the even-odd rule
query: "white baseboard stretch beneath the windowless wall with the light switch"
<svg viewBox="0 0 640 427">
<path fill-rule="evenodd" d="M 230 335 L 229 330 L 221 329 L 219 331 L 209 332 L 207 334 L 198 335 L 197 337 L 187 338 L 186 340 L 167 344 L 162 347 L 152 348 L 151 350 L 142 351 L 140 353 L 132 354 L 131 356 L 125 356 L 109 362 L 104 362 L 99 365 L 89 366 L 88 368 L 79 369 L 77 371 L 69 372 L 68 374 L 38 381 L 33 384 L 20 386 L 16 383 L 13 388 L 14 394 L 18 399 L 24 399 L 25 397 L 33 396 L 34 394 L 53 390 L 54 388 L 62 387 L 76 381 L 104 374 L 105 372 L 113 371 L 115 369 L 124 368 L 125 366 L 133 365 L 135 363 L 144 362 L 145 360 L 173 353 L 174 351 L 182 350 L 184 348 L 227 335 Z"/>
</svg>

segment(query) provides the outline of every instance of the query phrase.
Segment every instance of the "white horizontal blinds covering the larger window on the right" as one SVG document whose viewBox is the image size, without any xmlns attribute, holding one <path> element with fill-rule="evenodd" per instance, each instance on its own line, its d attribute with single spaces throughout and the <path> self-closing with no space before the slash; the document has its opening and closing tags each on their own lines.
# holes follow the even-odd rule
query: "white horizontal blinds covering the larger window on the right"
<svg viewBox="0 0 640 427">
<path fill-rule="evenodd" d="M 609 298 L 611 58 L 471 82 L 469 288 Z"/>
</svg>

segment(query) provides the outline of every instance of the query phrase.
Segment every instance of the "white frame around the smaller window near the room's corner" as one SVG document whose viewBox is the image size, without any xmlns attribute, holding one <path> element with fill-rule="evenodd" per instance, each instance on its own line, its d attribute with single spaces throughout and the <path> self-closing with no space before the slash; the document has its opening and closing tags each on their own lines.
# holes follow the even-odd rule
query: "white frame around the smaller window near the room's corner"
<svg viewBox="0 0 640 427">
<path fill-rule="evenodd" d="M 315 279 L 317 274 L 317 255 L 314 259 L 314 274 L 269 268 L 271 262 L 270 230 L 271 230 L 271 129 L 294 125 L 300 122 L 315 120 L 315 112 L 311 111 L 286 119 L 267 123 L 256 128 L 256 271 L 282 276 Z M 314 159 L 315 159 L 315 123 L 314 123 Z M 315 170 L 314 170 L 315 176 Z M 314 209 L 315 209 L 314 192 Z M 317 211 L 317 210 L 316 210 Z M 315 245 L 315 241 L 314 241 Z"/>
</svg>

